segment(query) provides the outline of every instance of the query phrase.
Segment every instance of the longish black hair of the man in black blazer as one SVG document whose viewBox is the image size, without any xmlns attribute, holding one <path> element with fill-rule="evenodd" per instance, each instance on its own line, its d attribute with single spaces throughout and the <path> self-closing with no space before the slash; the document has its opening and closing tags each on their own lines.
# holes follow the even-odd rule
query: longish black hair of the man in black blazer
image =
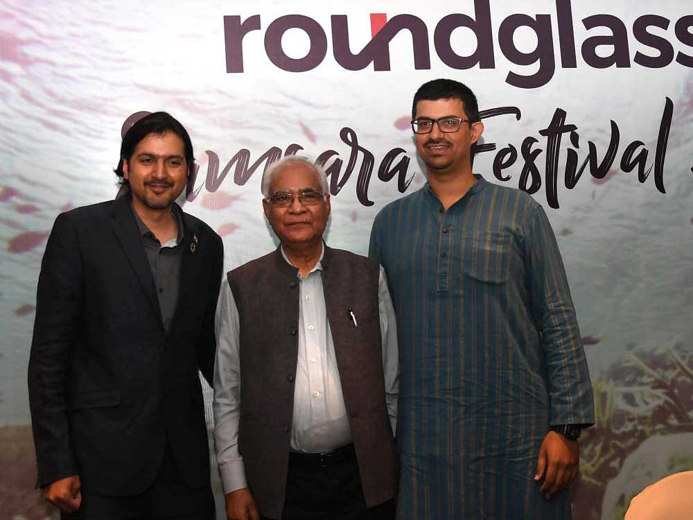
<svg viewBox="0 0 693 520">
<path fill-rule="evenodd" d="M 114 172 L 121 177 L 121 182 L 126 184 L 127 179 L 123 177 L 123 162 L 130 161 L 130 157 L 137 148 L 139 141 L 150 134 L 164 135 L 166 132 L 173 132 L 183 141 L 185 149 L 185 161 L 188 165 L 188 178 L 192 177 L 195 170 L 195 157 L 193 157 L 193 143 L 190 140 L 188 131 L 184 126 L 168 112 L 152 112 L 134 123 L 130 130 L 125 132 L 121 144 L 121 158 Z"/>
</svg>

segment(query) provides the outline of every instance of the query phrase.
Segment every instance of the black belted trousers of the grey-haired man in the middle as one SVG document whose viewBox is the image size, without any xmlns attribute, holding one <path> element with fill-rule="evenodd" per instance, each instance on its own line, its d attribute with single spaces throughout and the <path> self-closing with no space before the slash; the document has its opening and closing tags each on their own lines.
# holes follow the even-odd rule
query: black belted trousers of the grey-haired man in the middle
<svg viewBox="0 0 693 520">
<path fill-rule="evenodd" d="M 340 456 L 291 453 L 281 520 L 392 520 L 395 502 L 367 508 L 353 445 Z"/>
</svg>

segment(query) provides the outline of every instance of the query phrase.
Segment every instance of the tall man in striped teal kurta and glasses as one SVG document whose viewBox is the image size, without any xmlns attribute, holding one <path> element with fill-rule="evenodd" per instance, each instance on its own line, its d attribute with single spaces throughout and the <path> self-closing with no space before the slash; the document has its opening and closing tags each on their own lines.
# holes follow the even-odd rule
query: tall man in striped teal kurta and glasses
<svg viewBox="0 0 693 520">
<path fill-rule="evenodd" d="M 592 387 L 543 209 L 471 169 L 468 87 L 412 107 L 428 183 L 376 217 L 370 254 L 397 313 L 399 519 L 570 519 Z"/>
</svg>

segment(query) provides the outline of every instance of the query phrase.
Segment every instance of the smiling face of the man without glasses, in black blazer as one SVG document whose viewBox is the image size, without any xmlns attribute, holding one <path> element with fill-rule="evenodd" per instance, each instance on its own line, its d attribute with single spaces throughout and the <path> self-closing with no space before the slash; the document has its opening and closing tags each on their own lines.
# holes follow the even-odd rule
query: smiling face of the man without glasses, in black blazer
<svg viewBox="0 0 693 520">
<path fill-rule="evenodd" d="M 138 214 L 167 210 L 188 179 L 183 140 L 173 132 L 147 135 L 123 162 L 123 177 L 130 183 Z"/>
</svg>

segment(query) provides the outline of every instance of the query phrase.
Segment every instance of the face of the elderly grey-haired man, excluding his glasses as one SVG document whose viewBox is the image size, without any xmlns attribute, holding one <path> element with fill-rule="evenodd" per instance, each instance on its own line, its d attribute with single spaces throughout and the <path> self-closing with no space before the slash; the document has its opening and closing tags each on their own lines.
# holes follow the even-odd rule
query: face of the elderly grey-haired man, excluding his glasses
<svg viewBox="0 0 693 520">
<path fill-rule="evenodd" d="M 272 176 L 270 196 L 277 193 L 297 195 L 304 191 L 322 193 L 317 173 L 305 164 L 290 162 Z M 288 207 L 276 207 L 268 200 L 263 200 L 263 207 L 281 243 L 306 246 L 322 243 L 322 234 L 330 215 L 328 195 L 316 205 L 304 205 L 299 197 L 292 197 Z"/>
</svg>

